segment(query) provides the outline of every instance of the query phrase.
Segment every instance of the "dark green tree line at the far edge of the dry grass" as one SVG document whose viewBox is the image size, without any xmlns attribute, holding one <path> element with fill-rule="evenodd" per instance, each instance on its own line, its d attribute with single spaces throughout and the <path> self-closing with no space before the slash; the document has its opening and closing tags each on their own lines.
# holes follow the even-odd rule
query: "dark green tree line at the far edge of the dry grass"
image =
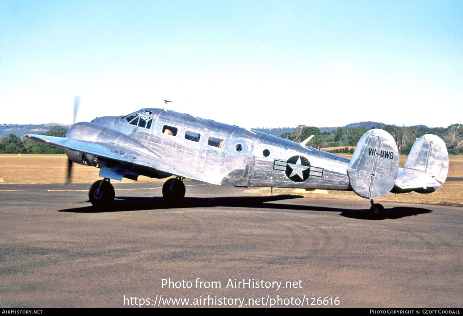
<svg viewBox="0 0 463 316">
<path fill-rule="evenodd" d="M 379 124 L 378 124 L 379 125 Z M 379 128 L 379 126 L 377 126 Z M 408 154 L 414 141 L 424 134 L 435 134 L 442 138 L 447 146 L 449 154 L 463 153 L 463 124 L 452 124 L 446 128 L 428 128 L 425 126 L 400 127 L 396 125 L 384 125 L 383 129 L 394 137 L 399 153 Z M 356 146 L 358 140 L 367 131 L 364 126 L 354 128 L 342 128 L 331 132 L 321 132 L 314 126 L 299 125 L 293 132 L 286 132 L 280 137 L 300 143 L 310 135 L 314 135 L 307 145 L 312 147 L 343 147 L 337 152 L 352 152 L 348 146 Z M 64 137 L 68 131 L 62 126 L 55 126 L 44 135 Z M 0 140 L 0 153 L 41 153 L 41 154 L 61 154 L 62 148 L 52 147 L 47 144 L 38 143 L 27 137 L 19 138 L 15 134 L 3 137 Z"/>
</svg>

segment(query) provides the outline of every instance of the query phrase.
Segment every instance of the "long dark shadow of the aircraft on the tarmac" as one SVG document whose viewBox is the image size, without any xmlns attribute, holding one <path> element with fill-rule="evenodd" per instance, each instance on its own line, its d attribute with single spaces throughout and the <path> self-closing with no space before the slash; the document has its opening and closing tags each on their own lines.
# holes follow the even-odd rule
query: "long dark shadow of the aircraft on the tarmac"
<svg viewBox="0 0 463 316">
<path fill-rule="evenodd" d="M 58 212 L 70 213 L 106 213 L 141 211 L 156 209 L 178 209 L 178 208 L 197 208 L 197 207 L 252 207 L 252 208 L 272 208 L 280 210 L 296 211 L 318 211 L 318 212 L 340 212 L 339 215 L 353 219 L 378 219 L 373 218 L 369 213 L 369 208 L 364 209 L 345 209 L 335 207 L 319 207 L 307 205 L 294 205 L 282 203 L 266 203 L 281 200 L 303 198 L 301 195 L 282 194 L 273 196 L 252 196 L 252 197 L 214 197 L 214 198 L 195 198 L 185 197 L 181 203 L 176 205 L 167 204 L 163 197 L 132 197 L 117 196 L 111 207 L 76 207 L 58 210 Z M 82 201 L 81 203 L 88 202 Z M 430 213 L 431 210 L 419 207 L 392 207 L 386 208 L 386 219 L 399 219 L 406 216 Z M 384 218 L 382 218 L 384 219 Z"/>
</svg>

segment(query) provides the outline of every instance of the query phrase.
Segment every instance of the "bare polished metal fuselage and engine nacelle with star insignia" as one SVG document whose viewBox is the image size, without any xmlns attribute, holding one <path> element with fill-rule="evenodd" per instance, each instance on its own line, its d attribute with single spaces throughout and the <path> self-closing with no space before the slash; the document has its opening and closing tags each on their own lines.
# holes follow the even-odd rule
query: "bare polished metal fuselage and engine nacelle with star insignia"
<svg viewBox="0 0 463 316">
<path fill-rule="evenodd" d="M 100 176 L 136 179 L 174 174 L 214 184 L 238 187 L 350 189 L 349 159 L 290 140 L 212 120 L 163 109 L 150 112 L 150 128 L 138 127 L 125 117 L 105 116 L 77 123 L 69 139 L 113 142 L 118 151 L 131 148 L 152 155 L 144 166 L 67 150 L 69 159 L 101 168 Z M 175 135 L 164 133 L 176 129 Z M 198 141 L 186 134 L 199 134 Z M 211 139 L 224 140 L 212 146 Z"/>
</svg>

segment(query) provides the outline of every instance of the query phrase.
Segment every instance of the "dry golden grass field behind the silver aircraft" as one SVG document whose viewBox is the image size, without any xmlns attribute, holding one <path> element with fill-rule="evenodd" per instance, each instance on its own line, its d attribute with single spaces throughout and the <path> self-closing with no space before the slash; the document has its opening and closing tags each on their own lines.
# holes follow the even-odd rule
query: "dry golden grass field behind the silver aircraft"
<svg viewBox="0 0 463 316">
<path fill-rule="evenodd" d="M 340 154 L 350 158 L 350 154 Z M 400 165 L 405 163 L 407 156 L 400 156 Z M 63 183 L 66 174 L 66 155 L 15 155 L 0 154 L 0 176 L 4 183 Z M 99 169 L 80 164 L 74 164 L 73 182 L 93 183 L 98 180 Z M 449 177 L 463 177 L 463 155 L 450 156 Z M 163 182 L 163 179 L 138 177 L 138 182 Z M 123 179 L 122 182 L 132 182 Z M 275 188 L 274 194 L 291 194 L 293 189 Z M 270 188 L 251 188 L 248 192 L 270 194 Z M 389 193 L 376 201 L 394 201 L 406 203 L 426 203 L 444 205 L 463 205 L 463 182 L 445 182 L 443 187 L 431 194 L 392 194 Z M 330 198 L 346 200 L 364 200 L 353 192 L 328 191 L 328 194 L 304 193 L 310 198 Z"/>
</svg>

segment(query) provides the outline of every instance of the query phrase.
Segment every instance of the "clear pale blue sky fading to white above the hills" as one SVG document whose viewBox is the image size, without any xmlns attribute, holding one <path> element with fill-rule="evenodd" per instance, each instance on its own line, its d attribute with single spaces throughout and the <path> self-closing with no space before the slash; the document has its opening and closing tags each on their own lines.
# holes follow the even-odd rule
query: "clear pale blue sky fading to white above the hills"
<svg viewBox="0 0 463 316">
<path fill-rule="evenodd" d="M 462 1 L 0 1 L 0 123 L 446 127 L 462 74 Z"/>
</svg>

